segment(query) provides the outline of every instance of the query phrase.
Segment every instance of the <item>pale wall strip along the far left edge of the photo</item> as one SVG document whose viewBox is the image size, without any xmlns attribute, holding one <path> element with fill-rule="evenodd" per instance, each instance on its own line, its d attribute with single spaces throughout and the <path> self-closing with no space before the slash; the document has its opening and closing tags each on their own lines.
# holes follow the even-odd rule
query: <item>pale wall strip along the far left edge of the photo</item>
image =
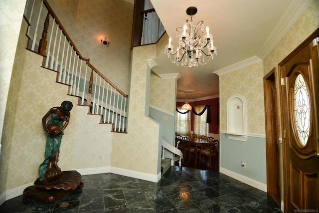
<svg viewBox="0 0 319 213">
<path fill-rule="evenodd" d="M 10 106 L 7 106 L 6 102 L 25 1 L 26 0 L 2 0 L 0 3 L 0 143 L 2 143 L 3 137 L 2 127 L 4 126 L 5 111 L 9 110 L 12 112 L 15 110 L 12 108 L 7 109 Z M 6 125 L 12 126 L 13 122 Z M 7 136 L 9 135 L 10 134 Z M 5 147 L 3 147 L 2 144 L 0 154 L 0 195 L 5 187 L 6 179 L 4 176 L 6 174 L 5 161 L 7 157 L 8 153 L 5 152 Z M 4 175 L 2 173 L 4 173 Z"/>
</svg>

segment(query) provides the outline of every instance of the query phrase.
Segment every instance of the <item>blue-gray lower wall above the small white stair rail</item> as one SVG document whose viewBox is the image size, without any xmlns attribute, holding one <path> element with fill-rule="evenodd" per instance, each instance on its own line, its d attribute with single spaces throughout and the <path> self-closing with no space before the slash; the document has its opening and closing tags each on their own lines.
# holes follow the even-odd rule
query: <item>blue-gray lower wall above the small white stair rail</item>
<svg viewBox="0 0 319 213">
<path fill-rule="evenodd" d="M 163 111 L 155 109 L 150 106 L 149 114 L 154 120 L 161 124 L 162 127 L 162 138 L 170 145 L 174 146 L 175 144 L 175 116 L 167 114 Z M 163 116 L 167 116 L 167 120 L 163 120 Z M 165 158 L 172 159 L 173 154 L 169 151 L 164 153 Z"/>
</svg>

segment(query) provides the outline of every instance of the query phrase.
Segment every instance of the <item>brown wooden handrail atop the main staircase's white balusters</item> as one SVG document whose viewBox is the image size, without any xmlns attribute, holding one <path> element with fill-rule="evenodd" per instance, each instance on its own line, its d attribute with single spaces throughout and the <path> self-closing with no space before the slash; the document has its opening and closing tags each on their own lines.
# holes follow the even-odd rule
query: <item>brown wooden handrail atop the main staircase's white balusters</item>
<svg viewBox="0 0 319 213">
<path fill-rule="evenodd" d="M 94 70 L 98 75 L 100 75 L 106 82 L 108 82 L 114 89 L 116 89 L 121 95 L 123 95 L 124 97 L 129 97 L 127 94 L 125 94 L 122 90 L 120 90 L 117 86 L 115 86 L 114 83 L 112 83 L 107 77 L 105 77 L 100 71 L 98 71 L 97 68 L 95 68 L 89 61 L 89 58 L 83 57 L 80 53 L 80 51 L 77 49 L 77 47 L 75 46 L 74 42 L 72 41 L 71 37 L 69 36 L 69 34 L 67 33 L 66 29 L 63 27 L 61 21 L 58 19 L 57 15 L 54 13 L 52 7 L 50 6 L 50 4 L 48 3 L 47 0 L 43 0 L 43 3 L 45 5 L 45 7 L 48 9 L 48 14 L 50 13 L 52 15 L 52 17 L 55 19 L 55 22 L 58 24 L 59 28 L 62 30 L 62 33 L 66 36 L 66 39 L 70 42 L 72 48 L 74 49 L 74 51 L 76 51 L 76 54 L 79 56 L 79 58 L 81 60 L 85 60 L 86 64 L 92 68 L 92 70 Z M 48 23 L 47 23 L 48 25 Z M 43 30 L 44 31 L 44 30 Z M 44 50 L 41 50 L 41 52 L 44 51 L 45 54 L 45 49 L 46 49 L 46 45 L 44 47 Z M 43 55 L 44 55 L 43 54 Z"/>
</svg>

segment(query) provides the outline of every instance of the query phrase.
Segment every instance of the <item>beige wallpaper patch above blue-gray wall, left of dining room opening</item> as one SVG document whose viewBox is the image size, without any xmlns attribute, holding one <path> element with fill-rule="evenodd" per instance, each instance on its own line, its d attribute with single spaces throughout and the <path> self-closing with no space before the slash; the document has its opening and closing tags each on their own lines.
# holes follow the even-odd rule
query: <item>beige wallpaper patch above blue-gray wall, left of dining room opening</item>
<svg viewBox="0 0 319 213">
<path fill-rule="evenodd" d="M 175 78 L 161 79 L 160 76 L 151 72 L 150 104 L 174 115 L 175 85 Z"/>
</svg>

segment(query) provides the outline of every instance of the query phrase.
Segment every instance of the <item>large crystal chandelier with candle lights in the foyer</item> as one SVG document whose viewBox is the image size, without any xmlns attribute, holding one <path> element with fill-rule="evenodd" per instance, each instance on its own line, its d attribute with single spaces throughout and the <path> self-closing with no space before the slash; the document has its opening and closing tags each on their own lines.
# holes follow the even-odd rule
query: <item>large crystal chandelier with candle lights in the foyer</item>
<svg viewBox="0 0 319 213">
<path fill-rule="evenodd" d="M 176 37 L 178 38 L 176 51 L 171 45 L 171 37 L 168 39 L 168 45 L 165 46 L 165 53 L 177 66 L 180 64 L 184 67 L 192 67 L 206 64 L 214 58 L 214 54 L 217 55 L 209 27 L 206 26 L 204 30 L 204 21 L 202 20 L 196 25 L 193 23 L 192 17 L 196 12 L 196 7 L 188 7 L 186 13 L 190 15 L 190 20 L 187 19 L 183 27 L 176 28 Z M 199 34 L 200 32 L 202 35 Z M 205 50 L 206 47 L 207 50 Z"/>
</svg>

